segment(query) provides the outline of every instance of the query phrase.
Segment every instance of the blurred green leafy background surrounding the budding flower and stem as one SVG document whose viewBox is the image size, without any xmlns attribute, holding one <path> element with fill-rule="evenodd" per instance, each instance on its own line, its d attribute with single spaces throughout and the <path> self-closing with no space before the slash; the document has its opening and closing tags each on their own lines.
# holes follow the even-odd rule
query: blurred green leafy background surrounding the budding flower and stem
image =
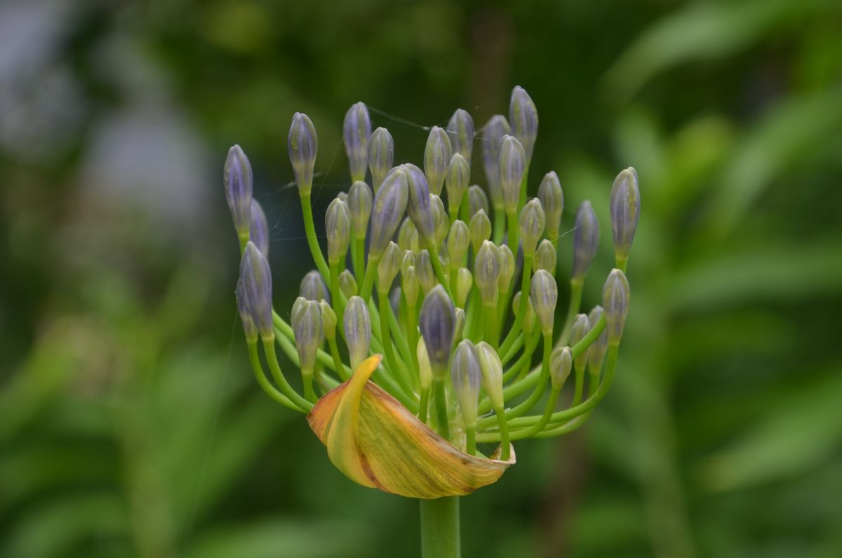
<svg viewBox="0 0 842 558">
<path fill-rule="evenodd" d="M 418 163 L 421 126 L 482 126 L 515 84 L 530 190 L 554 169 L 565 223 L 603 219 L 588 307 L 637 168 L 632 312 L 587 427 L 463 500 L 464 555 L 842 555 L 838 0 L 6 0 L 0 556 L 418 555 L 417 502 L 345 480 L 253 382 L 222 164 L 252 160 L 288 313 L 293 112 L 318 216 L 353 102 Z"/>
</svg>

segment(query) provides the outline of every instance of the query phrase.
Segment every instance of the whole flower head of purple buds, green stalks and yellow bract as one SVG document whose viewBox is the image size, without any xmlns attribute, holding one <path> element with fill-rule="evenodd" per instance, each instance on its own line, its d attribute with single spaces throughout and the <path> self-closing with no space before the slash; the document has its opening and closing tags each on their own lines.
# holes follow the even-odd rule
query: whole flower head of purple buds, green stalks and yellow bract
<svg viewBox="0 0 842 558">
<path fill-rule="evenodd" d="M 514 463 L 512 441 L 573 431 L 610 388 L 630 297 L 637 172 L 622 170 L 610 190 L 616 269 L 588 314 L 579 311 L 600 226 L 589 201 L 578 207 L 571 297 L 557 320 L 564 198 L 554 172 L 527 196 L 537 132 L 536 107 L 516 87 L 508 120 L 495 115 L 475 131 L 456 110 L 446 128 L 434 126 L 422 169 L 395 164 L 392 135 L 371 131 L 365 105 L 353 105 L 344 120 L 350 187 L 328 206 L 325 259 L 310 200 L 316 130 L 296 113 L 290 160 L 316 269 L 289 320 L 272 308 L 268 227 L 248 158 L 237 146 L 228 153 L 226 197 L 242 249 L 237 303 L 254 373 L 274 400 L 308 413 L 330 459 L 360 484 L 425 498 L 472 491 Z M 475 139 L 485 189 L 471 184 Z M 276 344 L 301 370 L 303 395 Z M 386 451 L 395 440 L 402 448 Z M 477 443 L 499 445 L 488 459 Z M 448 461 L 454 451 L 460 459 Z M 406 486 L 413 467 L 441 478 Z"/>
</svg>

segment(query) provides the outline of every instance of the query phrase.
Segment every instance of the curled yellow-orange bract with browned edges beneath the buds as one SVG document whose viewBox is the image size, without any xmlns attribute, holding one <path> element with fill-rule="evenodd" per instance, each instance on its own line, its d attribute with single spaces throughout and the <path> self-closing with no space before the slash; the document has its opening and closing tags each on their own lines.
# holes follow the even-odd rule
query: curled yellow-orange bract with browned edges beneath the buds
<svg viewBox="0 0 842 558">
<path fill-rule="evenodd" d="M 344 384 L 325 394 L 307 415 L 328 457 L 350 480 L 370 488 L 432 499 L 464 496 L 496 482 L 511 459 L 461 452 L 419 421 L 392 395 L 369 382 L 381 356 L 367 358 Z"/>
</svg>

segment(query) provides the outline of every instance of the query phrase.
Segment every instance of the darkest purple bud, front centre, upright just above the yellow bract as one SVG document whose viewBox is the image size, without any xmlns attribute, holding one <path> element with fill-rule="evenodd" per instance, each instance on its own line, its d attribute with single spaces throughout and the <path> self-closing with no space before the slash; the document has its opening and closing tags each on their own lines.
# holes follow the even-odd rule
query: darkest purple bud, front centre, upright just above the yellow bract
<svg viewBox="0 0 842 558">
<path fill-rule="evenodd" d="M 450 364 L 450 349 L 456 333 L 456 308 L 445 287 L 436 285 L 427 293 L 421 305 L 418 329 L 427 346 L 434 378 L 443 380 Z"/>
</svg>

